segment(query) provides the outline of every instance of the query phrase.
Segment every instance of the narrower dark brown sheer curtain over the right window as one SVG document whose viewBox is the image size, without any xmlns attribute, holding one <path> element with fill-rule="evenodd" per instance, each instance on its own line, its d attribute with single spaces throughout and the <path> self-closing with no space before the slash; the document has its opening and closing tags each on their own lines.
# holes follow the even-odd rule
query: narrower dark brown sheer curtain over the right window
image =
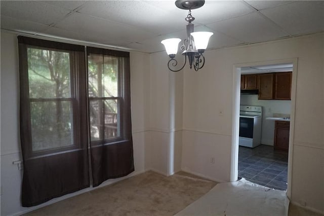
<svg viewBox="0 0 324 216">
<path fill-rule="evenodd" d="M 87 47 L 93 186 L 134 171 L 128 52 Z"/>
</svg>

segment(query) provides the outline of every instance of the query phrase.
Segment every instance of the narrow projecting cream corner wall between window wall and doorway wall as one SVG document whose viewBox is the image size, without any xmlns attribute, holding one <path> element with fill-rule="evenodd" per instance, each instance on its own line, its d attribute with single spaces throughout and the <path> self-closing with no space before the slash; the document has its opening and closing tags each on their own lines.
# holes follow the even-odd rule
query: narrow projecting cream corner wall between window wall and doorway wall
<svg viewBox="0 0 324 216">
<path fill-rule="evenodd" d="M 181 168 L 183 72 L 171 73 L 168 55 L 150 54 L 150 140 L 146 168 L 171 175 Z"/>
</svg>

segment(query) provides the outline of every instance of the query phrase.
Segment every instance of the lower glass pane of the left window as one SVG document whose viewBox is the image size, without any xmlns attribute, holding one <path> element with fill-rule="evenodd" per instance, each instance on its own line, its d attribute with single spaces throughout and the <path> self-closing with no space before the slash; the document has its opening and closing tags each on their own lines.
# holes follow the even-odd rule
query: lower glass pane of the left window
<svg viewBox="0 0 324 216">
<path fill-rule="evenodd" d="M 72 102 L 31 102 L 32 151 L 73 145 Z"/>
</svg>

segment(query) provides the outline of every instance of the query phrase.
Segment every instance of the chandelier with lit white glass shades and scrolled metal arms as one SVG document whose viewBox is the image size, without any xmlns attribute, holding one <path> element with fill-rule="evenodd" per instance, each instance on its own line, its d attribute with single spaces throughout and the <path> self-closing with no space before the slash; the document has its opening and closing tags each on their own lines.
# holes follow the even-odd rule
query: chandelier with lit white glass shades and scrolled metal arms
<svg viewBox="0 0 324 216">
<path fill-rule="evenodd" d="M 183 1 L 177 0 L 175 2 L 176 6 L 180 9 L 189 10 L 189 13 L 185 20 L 188 22 L 186 25 L 187 28 L 187 38 L 183 40 L 183 44 L 180 49 L 183 50 L 182 55 L 184 55 L 184 64 L 180 69 L 175 69 L 178 65 L 178 61 L 175 59 L 176 54 L 178 52 L 178 46 L 181 41 L 179 38 L 170 38 L 161 41 L 161 43 L 165 46 L 167 54 L 171 58 L 168 62 L 168 68 L 171 71 L 177 72 L 184 68 L 187 63 L 187 58 L 189 61 L 190 69 L 193 68 L 197 71 L 200 68 L 203 68 L 205 65 L 205 56 L 203 53 L 205 52 L 209 38 L 214 34 L 213 32 L 208 31 L 193 31 L 194 24 L 191 23 L 195 18 L 191 15 L 191 9 L 200 8 L 205 4 L 205 0 L 203 1 Z M 172 69 L 172 68 L 173 69 Z"/>
</svg>

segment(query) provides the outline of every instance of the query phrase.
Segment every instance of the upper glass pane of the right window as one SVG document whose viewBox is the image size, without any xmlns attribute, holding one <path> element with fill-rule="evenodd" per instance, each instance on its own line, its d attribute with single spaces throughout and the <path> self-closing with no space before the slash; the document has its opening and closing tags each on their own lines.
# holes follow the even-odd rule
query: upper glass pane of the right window
<svg viewBox="0 0 324 216">
<path fill-rule="evenodd" d="M 118 59 L 111 56 L 88 56 L 89 97 L 118 96 Z"/>
</svg>

